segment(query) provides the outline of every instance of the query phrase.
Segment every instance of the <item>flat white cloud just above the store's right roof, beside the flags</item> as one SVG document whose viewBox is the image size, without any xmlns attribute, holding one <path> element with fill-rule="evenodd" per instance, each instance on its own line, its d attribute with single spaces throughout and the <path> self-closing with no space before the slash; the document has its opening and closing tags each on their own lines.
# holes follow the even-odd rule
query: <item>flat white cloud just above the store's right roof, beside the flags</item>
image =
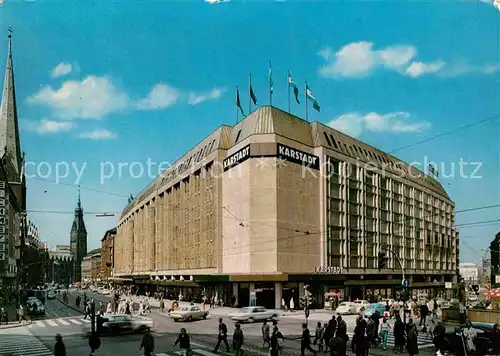
<svg viewBox="0 0 500 356">
<path fill-rule="evenodd" d="M 361 135 L 365 131 L 415 133 L 425 131 L 431 126 L 427 121 L 411 122 L 410 119 L 410 114 L 407 112 L 387 114 L 375 112 L 367 114 L 347 113 L 333 119 L 328 125 L 354 137 Z"/>
</svg>

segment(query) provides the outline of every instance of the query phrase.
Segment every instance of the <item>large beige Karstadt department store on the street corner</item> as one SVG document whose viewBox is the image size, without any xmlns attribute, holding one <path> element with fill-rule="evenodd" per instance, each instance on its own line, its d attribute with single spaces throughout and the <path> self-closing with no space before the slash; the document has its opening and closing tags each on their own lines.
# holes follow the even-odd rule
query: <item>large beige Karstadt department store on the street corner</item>
<svg viewBox="0 0 500 356">
<path fill-rule="evenodd" d="M 377 254 L 389 249 L 385 270 Z M 114 277 L 268 307 L 456 283 L 454 203 L 432 177 L 274 107 L 222 126 L 123 211 Z M 397 256 L 397 257 L 396 257 Z"/>
</svg>

